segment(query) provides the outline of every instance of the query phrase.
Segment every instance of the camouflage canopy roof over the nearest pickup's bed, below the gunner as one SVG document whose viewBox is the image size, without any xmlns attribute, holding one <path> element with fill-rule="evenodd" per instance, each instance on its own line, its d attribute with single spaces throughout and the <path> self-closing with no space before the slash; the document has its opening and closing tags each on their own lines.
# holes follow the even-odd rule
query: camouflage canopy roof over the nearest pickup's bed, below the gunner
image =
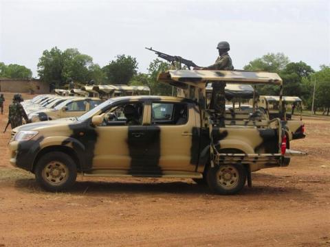
<svg viewBox="0 0 330 247">
<path fill-rule="evenodd" d="M 188 84 L 205 87 L 205 82 L 230 82 L 232 84 L 282 84 L 277 73 L 214 70 L 169 70 L 158 75 L 159 82 L 167 82 L 181 88 Z"/>
</svg>

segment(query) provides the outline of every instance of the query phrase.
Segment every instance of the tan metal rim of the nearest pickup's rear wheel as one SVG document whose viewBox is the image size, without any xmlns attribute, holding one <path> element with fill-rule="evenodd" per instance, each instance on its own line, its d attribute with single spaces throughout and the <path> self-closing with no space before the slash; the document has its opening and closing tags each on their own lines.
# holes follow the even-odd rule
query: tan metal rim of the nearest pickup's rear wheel
<svg viewBox="0 0 330 247">
<path fill-rule="evenodd" d="M 239 183 L 239 171 L 232 165 L 221 165 L 217 172 L 217 183 L 223 189 L 233 189 Z"/>
</svg>

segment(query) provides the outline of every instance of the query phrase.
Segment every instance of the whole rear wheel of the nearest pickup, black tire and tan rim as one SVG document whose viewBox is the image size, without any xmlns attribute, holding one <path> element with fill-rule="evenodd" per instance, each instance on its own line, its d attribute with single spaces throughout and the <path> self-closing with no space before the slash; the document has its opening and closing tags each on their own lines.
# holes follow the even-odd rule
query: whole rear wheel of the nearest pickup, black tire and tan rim
<svg viewBox="0 0 330 247">
<path fill-rule="evenodd" d="M 243 189 L 245 180 L 246 169 L 241 164 L 217 165 L 208 169 L 208 186 L 220 195 L 238 193 Z"/>
</svg>

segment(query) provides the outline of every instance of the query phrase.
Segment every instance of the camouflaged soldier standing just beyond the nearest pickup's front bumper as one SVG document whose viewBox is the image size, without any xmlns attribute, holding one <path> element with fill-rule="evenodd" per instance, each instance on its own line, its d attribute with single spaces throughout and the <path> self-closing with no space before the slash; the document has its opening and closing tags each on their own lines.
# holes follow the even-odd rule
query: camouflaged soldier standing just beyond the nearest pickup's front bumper
<svg viewBox="0 0 330 247">
<path fill-rule="evenodd" d="M 10 122 L 12 129 L 21 126 L 23 118 L 27 123 L 30 122 L 23 106 L 21 105 L 21 101 L 21 95 L 15 94 L 12 99 L 12 104 L 9 106 L 8 121 Z"/>
</svg>

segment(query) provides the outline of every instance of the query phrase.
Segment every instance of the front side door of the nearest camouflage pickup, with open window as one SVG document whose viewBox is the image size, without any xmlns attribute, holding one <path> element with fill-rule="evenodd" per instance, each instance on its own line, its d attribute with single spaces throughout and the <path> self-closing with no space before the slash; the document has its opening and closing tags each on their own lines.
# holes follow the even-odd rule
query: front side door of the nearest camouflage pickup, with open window
<svg viewBox="0 0 330 247">
<path fill-rule="evenodd" d="M 129 123 L 124 109 L 131 106 L 135 121 Z M 125 102 L 113 106 L 104 115 L 103 123 L 96 126 L 93 169 L 115 169 L 124 174 L 141 174 L 146 161 L 146 112 L 143 102 Z"/>
</svg>

